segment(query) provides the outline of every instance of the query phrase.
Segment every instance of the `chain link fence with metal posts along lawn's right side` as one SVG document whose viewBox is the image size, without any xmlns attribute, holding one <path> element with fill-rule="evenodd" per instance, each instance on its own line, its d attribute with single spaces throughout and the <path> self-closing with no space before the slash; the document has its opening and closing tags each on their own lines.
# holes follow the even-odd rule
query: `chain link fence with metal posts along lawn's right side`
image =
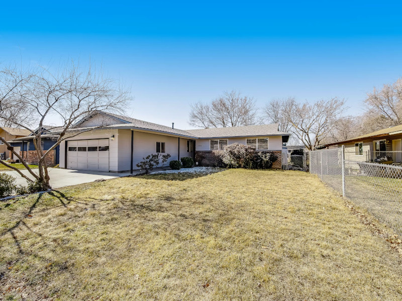
<svg viewBox="0 0 402 301">
<path fill-rule="evenodd" d="M 310 152 L 310 172 L 402 235 L 402 167 L 348 161 L 343 152 Z"/>
</svg>

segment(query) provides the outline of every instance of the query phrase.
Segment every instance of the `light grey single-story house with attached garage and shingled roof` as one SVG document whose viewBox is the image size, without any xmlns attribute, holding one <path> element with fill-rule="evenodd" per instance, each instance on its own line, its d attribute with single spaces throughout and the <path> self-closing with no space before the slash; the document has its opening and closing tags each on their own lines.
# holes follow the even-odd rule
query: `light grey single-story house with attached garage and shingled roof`
<svg viewBox="0 0 402 301">
<path fill-rule="evenodd" d="M 273 168 L 281 168 L 282 143 L 289 133 L 277 124 L 181 130 L 117 114 L 95 112 L 73 126 L 91 129 L 60 144 L 60 168 L 125 172 L 150 154 L 170 154 L 170 160 L 203 153 L 203 165 L 214 165 L 213 150 L 239 142 L 275 153 Z"/>
</svg>

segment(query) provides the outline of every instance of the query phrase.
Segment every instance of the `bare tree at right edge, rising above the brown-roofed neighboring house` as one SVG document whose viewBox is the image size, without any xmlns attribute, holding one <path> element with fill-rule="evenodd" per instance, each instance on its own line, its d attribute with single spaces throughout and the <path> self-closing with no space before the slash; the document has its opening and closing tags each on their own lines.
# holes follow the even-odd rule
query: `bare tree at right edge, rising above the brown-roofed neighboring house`
<svg viewBox="0 0 402 301">
<path fill-rule="evenodd" d="M 383 115 L 389 125 L 402 124 L 402 78 L 383 85 L 381 90 L 374 88 L 364 102 L 371 115 Z"/>
</svg>

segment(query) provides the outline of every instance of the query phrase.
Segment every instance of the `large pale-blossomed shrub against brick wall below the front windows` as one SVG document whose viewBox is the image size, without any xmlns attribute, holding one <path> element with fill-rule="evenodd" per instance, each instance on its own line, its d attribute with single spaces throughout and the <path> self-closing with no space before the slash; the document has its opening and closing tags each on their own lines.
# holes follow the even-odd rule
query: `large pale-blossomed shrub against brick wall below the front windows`
<svg viewBox="0 0 402 301">
<path fill-rule="evenodd" d="M 268 169 L 276 161 L 272 153 L 256 153 L 254 147 L 240 143 L 229 144 L 224 150 L 215 150 L 214 155 L 229 168 Z"/>
</svg>

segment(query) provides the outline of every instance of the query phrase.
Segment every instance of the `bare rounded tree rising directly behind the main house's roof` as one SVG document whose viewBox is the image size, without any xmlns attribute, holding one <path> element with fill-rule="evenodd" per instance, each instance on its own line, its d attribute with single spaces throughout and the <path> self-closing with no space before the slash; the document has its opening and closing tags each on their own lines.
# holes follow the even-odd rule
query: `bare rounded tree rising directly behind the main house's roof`
<svg viewBox="0 0 402 301">
<path fill-rule="evenodd" d="M 257 124 L 257 108 L 252 97 L 235 90 L 224 92 L 211 103 L 191 105 L 189 124 L 198 127 L 228 127 Z"/>
</svg>

